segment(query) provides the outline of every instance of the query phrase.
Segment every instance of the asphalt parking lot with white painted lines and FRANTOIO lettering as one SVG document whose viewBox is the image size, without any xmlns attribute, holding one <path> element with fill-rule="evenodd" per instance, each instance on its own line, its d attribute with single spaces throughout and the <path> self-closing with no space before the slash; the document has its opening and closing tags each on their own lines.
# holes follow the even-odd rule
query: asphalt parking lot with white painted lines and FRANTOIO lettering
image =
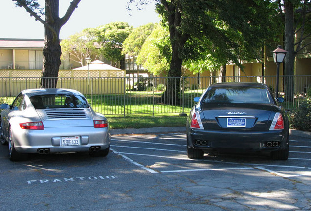
<svg viewBox="0 0 311 211">
<path fill-rule="evenodd" d="M 11 162 L 0 146 L 0 209 L 310 210 L 311 139 L 290 136 L 289 159 L 205 154 L 184 133 L 112 135 L 105 158 L 35 155 Z"/>
</svg>

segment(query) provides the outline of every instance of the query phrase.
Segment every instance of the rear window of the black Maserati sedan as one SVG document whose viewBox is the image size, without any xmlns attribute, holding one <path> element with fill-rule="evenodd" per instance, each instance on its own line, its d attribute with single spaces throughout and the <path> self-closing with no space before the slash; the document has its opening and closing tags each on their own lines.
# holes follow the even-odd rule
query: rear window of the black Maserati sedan
<svg viewBox="0 0 311 211">
<path fill-rule="evenodd" d="M 261 103 L 271 104 L 270 93 L 263 88 L 255 87 L 225 87 L 212 88 L 207 91 L 204 103 Z"/>
</svg>

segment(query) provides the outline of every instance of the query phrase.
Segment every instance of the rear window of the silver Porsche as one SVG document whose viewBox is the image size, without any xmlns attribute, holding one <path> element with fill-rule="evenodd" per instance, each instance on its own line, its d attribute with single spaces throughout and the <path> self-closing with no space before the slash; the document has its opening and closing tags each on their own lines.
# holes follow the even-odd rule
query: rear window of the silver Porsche
<svg viewBox="0 0 311 211">
<path fill-rule="evenodd" d="M 35 109 L 47 108 L 89 108 L 87 100 L 79 95 L 36 95 L 30 97 Z"/>
</svg>

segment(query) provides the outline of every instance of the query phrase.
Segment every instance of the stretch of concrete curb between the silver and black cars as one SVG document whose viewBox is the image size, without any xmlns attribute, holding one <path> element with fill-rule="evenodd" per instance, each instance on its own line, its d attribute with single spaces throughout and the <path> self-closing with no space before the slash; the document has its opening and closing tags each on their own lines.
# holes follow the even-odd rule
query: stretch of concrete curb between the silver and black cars
<svg viewBox="0 0 311 211">
<path fill-rule="evenodd" d="M 141 134 L 141 133 L 159 133 L 159 132 L 186 132 L 186 127 L 150 127 L 140 129 L 111 129 L 111 135 L 118 134 Z"/>
</svg>

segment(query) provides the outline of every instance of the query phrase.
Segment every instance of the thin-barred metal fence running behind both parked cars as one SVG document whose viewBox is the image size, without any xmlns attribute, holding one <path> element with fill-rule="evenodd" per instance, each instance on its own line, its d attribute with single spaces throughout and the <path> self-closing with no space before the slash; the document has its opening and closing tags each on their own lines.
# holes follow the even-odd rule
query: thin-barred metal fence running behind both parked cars
<svg viewBox="0 0 311 211">
<path fill-rule="evenodd" d="M 0 99 L 11 103 L 24 89 L 40 87 L 38 77 L 0 78 Z M 275 92 L 275 76 L 247 77 L 91 77 L 57 79 L 57 88 L 75 89 L 83 93 L 93 109 L 105 115 L 188 113 L 193 98 L 217 82 L 258 82 Z M 278 96 L 282 105 L 292 109 L 306 97 L 311 76 L 281 76 Z"/>
</svg>

